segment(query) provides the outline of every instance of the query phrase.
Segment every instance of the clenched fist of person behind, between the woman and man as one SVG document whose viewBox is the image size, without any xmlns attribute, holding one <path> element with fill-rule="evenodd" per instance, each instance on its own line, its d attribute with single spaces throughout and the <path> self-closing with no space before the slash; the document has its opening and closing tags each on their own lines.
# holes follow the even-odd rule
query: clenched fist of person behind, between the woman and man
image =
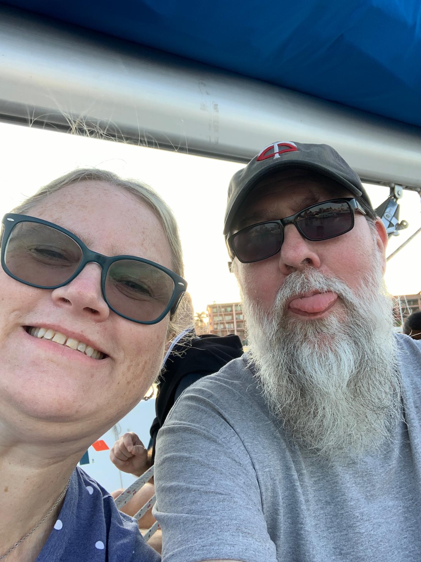
<svg viewBox="0 0 421 562">
<path fill-rule="evenodd" d="M 138 477 L 149 468 L 148 451 L 132 431 L 125 433 L 114 443 L 109 458 L 118 469 Z"/>
</svg>

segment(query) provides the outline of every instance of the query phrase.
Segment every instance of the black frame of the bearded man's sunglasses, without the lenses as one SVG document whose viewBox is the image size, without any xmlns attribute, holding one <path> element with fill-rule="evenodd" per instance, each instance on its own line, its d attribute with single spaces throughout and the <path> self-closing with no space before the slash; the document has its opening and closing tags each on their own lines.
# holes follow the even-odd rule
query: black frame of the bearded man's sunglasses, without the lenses
<svg viewBox="0 0 421 562">
<path fill-rule="evenodd" d="M 333 234 L 332 236 L 325 236 L 323 238 L 310 238 L 308 235 L 306 235 L 303 232 L 303 230 L 301 230 L 300 224 L 299 224 L 299 221 L 298 221 L 298 217 L 303 212 L 307 211 L 308 209 L 312 209 L 312 207 L 324 205 L 324 203 L 333 203 L 333 202 L 337 202 L 337 201 L 345 202 L 347 204 L 348 208 L 349 208 L 349 212 L 350 212 L 350 216 L 351 216 L 351 226 L 349 228 L 344 230 L 344 232 L 340 232 L 338 234 Z M 367 213 L 364 211 L 363 207 L 361 207 L 360 203 L 354 197 L 336 197 L 336 198 L 328 199 L 327 201 L 321 201 L 320 203 L 313 203 L 313 205 L 309 205 L 308 207 L 305 207 L 305 209 L 301 209 L 301 211 L 296 212 L 295 215 L 286 216 L 284 219 L 265 220 L 262 223 L 250 224 L 250 226 L 246 226 L 245 228 L 242 228 L 241 230 L 239 230 L 235 234 L 231 234 L 231 236 L 228 236 L 228 238 L 227 238 L 228 252 L 230 253 L 231 257 L 235 256 L 237 258 L 237 260 L 241 261 L 242 264 L 253 264 L 255 261 L 266 260 L 268 257 L 272 257 L 272 256 L 276 255 L 278 252 L 281 251 L 281 247 L 282 247 L 282 244 L 283 244 L 283 234 L 285 232 L 285 226 L 287 226 L 288 224 L 294 224 L 296 229 L 298 230 L 298 232 L 301 234 L 301 236 L 303 236 L 306 240 L 310 240 L 312 242 L 319 242 L 319 241 L 322 241 L 322 240 L 328 240 L 330 238 L 336 238 L 337 236 L 342 236 L 342 234 L 346 234 L 347 232 L 349 232 L 350 230 L 352 230 L 354 228 L 355 211 L 360 211 L 363 215 L 367 215 Z M 241 257 L 239 257 L 239 255 L 238 255 L 238 253 L 235 249 L 235 245 L 234 245 L 235 237 L 238 236 L 241 233 L 244 233 L 245 230 L 249 230 L 251 228 L 254 228 L 255 226 L 260 226 L 261 224 L 278 224 L 278 225 L 280 225 L 281 242 L 279 244 L 279 247 L 276 250 L 276 252 L 272 252 L 269 255 L 264 256 L 264 257 L 259 257 L 257 260 L 244 261 L 244 260 L 241 259 Z"/>
</svg>

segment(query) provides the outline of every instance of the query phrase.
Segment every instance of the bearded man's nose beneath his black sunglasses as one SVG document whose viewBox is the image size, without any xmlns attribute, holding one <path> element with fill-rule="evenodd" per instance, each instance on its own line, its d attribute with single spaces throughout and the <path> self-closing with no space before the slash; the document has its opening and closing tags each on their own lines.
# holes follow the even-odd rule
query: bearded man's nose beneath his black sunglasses
<svg viewBox="0 0 421 562">
<path fill-rule="evenodd" d="M 285 227 L 283 243 L 280 251 L 280 270 L 284 275 L 291 270 L 300 270 L 306 267 L 319 268 L 321 260 L 315 250 L 317 242 L 306 240 L 294 224 Z"/>
</svg>

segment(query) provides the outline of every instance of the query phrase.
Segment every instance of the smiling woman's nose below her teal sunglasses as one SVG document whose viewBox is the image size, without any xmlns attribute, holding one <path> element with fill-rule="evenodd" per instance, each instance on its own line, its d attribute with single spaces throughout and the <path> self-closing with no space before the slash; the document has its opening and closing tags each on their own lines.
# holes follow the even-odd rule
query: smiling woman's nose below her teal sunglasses
<svg viewBox="0 0 421 562">
<path fill-rule="evenodd" d="M 87 264 L 70 283 L 53 289 L 52 298 L 57 306 L 97 322 L 103 322 L 109 316 L 109 308 L 101 292 L 101 268 L 98 264 Z"/>
</svg>

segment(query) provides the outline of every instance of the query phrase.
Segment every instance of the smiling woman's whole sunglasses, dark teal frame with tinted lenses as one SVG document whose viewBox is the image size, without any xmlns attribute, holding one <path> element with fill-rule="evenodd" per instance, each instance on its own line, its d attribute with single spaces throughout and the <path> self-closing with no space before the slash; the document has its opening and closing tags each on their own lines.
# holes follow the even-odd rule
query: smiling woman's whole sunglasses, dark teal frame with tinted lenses
<svg viewBox="0 0 421 562">
<path fill-rule="evenodd" d="M 170 269 L 142 257 L 103 256 L 56 224 L 14 214 L 4 215 L 2 224 L 2 268 L 30 287 L 63 287 L 94 262 L 102 270 L 101 291 L 109 308 L 139 324 L 157 324 L 173 314 L 186 291 L 187 282 Z"/>
</svg>

